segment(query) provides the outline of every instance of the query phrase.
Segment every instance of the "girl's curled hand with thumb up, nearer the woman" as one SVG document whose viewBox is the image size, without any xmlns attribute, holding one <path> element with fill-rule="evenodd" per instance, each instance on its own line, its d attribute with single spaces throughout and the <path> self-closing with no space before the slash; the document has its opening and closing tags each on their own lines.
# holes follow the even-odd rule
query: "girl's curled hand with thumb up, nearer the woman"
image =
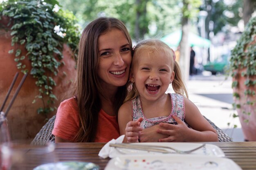
<svg viewBox="0 0 256 170">
<path fill-rule="evenodd" d="M 142 130 L 140 123 L 143 121 L 143 118 L 140 117 L 137 121 L 129 121 L 126 124 L 126 140 L 127 142 L 139 142 L 139 134 Z"/>
</svg>

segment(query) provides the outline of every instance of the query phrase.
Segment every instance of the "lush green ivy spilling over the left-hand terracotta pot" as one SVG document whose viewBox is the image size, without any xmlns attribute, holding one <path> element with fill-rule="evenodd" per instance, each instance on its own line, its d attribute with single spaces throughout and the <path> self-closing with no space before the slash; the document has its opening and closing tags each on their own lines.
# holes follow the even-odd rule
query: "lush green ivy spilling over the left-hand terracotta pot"
<svg viewBox="0 0 256 170">
<path fill-rule="evenodd" d="M 59 9 L 56 0 L 9 0 L 0 4 L 0 20 L 3 16 L 9 18 L 7 26 L 11 26 L 13 49 L 9 53 L 14 54 L 14 61 L 22 73 L 29 72 L 37 79 L 39 91 L 32 103 L 42 99 L 43 107 L 38 108 L 37 113 L 47 115 L 56 109 L 53 76 L 65 64 L 61 52 L 63 43 L 72 51 L 79 43 L 76 18 L 72 13 Z M 25 55 L 21 53 L 21 46 L 27 49 Z M 73 57 L 76 60 L 75 52 Z M 24 64 L 25 59 L 31 62 L 31 70 Z"/>
</svg>

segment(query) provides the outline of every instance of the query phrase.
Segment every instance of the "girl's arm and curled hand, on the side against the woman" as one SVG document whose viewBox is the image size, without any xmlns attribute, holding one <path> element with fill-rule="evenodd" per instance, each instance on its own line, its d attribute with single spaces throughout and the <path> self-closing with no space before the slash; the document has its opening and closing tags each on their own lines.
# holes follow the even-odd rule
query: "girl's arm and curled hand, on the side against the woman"
<svg viewBox="0 0 256 170">
<path fill-rule="evenodd" d="M 118 110 L 118 124 L 120 135 L 126 135 L 123 142 L 139 142 L 139 133 L 142 130 L 140 122 L 143 118 L 137 121 L 132 121 L 132 107 L 130 101 L 124 103 Z"/>
</svg>

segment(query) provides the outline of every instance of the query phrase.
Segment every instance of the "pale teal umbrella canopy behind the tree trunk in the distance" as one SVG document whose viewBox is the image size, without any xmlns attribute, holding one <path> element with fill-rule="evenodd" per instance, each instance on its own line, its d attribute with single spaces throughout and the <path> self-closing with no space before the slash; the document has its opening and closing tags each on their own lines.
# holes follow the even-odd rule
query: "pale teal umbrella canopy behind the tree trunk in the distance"
<svg viewBox="0 0 256 170">
<path fill-rule="evenodd" d="M 163 42 L 168 44 L 171 47 L 177 47 L 181 40 L 181 30 L 175 31 L 168 35 L 165 35 L 161 38 Z M 211 41 L 205 38 L 202 38 L 194 33 L 189 33 L 189 45 L 198 46 L 198 47 L 208 47 L 211 45 Z"/>
</svg>

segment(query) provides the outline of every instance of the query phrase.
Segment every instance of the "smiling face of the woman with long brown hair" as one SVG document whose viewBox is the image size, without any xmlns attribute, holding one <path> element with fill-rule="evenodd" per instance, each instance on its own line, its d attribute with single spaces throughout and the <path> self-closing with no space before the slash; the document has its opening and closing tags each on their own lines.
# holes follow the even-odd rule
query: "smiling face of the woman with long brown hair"
<svg viewBox="0 0 256 170">
<path fill-rule="evenodd" d="M 97 73 L 101 86 L 124 86 L 132 61 L 130 44 L 119 29 L 111 29 L 98 38 L 99 66 Z"/>
</svg>

